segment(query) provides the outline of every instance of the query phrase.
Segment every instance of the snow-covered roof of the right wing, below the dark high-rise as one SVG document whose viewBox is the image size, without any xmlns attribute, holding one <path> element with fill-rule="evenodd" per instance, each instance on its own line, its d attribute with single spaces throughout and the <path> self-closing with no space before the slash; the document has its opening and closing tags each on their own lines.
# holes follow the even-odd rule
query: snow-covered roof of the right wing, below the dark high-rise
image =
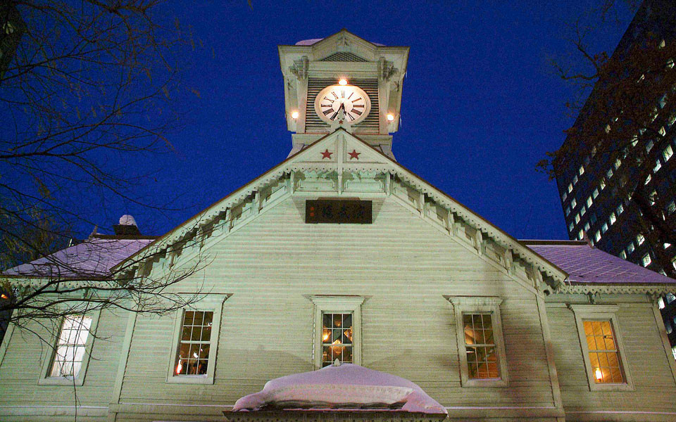
<svg viewBox="0 0 676 422">
<path fill-rule="evenodd" d="M 521 241 L 563 269 L 571 283 L 673 284 L 676 280 L 581 241 Z"/>
</svg>

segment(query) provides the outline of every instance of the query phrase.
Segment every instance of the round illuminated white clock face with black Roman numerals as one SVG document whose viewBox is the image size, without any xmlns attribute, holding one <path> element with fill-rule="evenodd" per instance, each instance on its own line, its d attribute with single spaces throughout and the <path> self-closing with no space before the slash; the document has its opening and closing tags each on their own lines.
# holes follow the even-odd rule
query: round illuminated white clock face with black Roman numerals
<svg viewBox="0 0 676 422">
<path fill-rule="evenodd" d="M 353 85 L 330 85 L 315 98 L 315 113 L 325 122 L 336 120 L 341 110 L 347 122 L 355 124 L 366 118 L 371 100 L 363 89 Z"/>
</svg>

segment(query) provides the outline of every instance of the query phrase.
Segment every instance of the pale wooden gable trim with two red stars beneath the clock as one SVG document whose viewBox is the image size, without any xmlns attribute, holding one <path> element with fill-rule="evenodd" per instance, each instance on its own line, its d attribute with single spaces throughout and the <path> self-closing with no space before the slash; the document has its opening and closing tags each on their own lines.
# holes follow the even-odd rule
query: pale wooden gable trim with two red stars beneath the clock
<svg viewBox="0 0 676 422">
<path fill-rule="evenodd" d="M 333 151 L 333 153 L 327 158 L 322 155 L 323 151 Z M 358 151 L 360 154 L 363 154 L 359 155 L 358 162 L 350 158 L 349 153 L 351 151 Z M 144 259 L 156 256 L 161 250 L 180 241 L 183 236 L 194 236 L 194 234 L 200 230 L 199 226 L 207 224 L 211 219 L 221 215 L 223 212 L 227 212 L 229 209 L 232 210 L 232 207 L 237 206 L 237 203 L 245 200 L 247 197 L 251 198 L 256 192 L 265 188 L 266 185 L 277 183 L 280 178 L 284 177 L 284 174 L 298 171 L 334 171 L 342 174 L 342 172 L 346 170 L 394 174 L 396 177 L 399 177 L 399 179 L 406 182 L 406 184 L 413 186 L 413 188 L 420 191 L 420 195 L 436 201 L 436 203 L 446 210 L 452 212 L 453 215 L 462 219 L 463 222 L 494 239 L 496 243 L 503 245 L 503 248 L 518 255 L 523 261 L 532 264 L 539 271 L 546 274 L 546 276 L 551 277 L 555 284 L 563 283 L 568 276 L 568 274 L 565 274 L 565 271 L 556 267 L 556 265 L 552 264 L 544 257 L 538 255 L 537 252 L 522 245 L 522 243 L 515 238 L 506 234 L 480 215 L 477 215 L 477 213 L 473 212 L 465 205 L 435 188 L 418 175 L 406 169 L 406 167 L 403 167 L 399 162 L 392 160 L 392 158 L 384 155 L 382 151 L 378 151 L 373 146 L 370 146 L 368 143 L 359 139 L 357 136 L 350 134 L 343 128 L 338 128 L 334 132 L 323 136 L 323 138 L 318 139 L 318 141 L 315 141 L 307 148 L 304 148 L 296 155 L 287 158 L 287 160 L 282 161 L 279 165 L 261 174 L 260 177 L 253 179 L 249 184 L 242 186 L 230 193 L 230 195 L 199 212 L 194 217 L 187 219 L 175 229 L 168 232 L 168 234 L 161 236 L 161 238 L 158 238 L 146 248 L 135 252 L 126 260 L 118 263 L 113 269 L 119 269 L 120 267 L 137 267 Z"/>
</svg>

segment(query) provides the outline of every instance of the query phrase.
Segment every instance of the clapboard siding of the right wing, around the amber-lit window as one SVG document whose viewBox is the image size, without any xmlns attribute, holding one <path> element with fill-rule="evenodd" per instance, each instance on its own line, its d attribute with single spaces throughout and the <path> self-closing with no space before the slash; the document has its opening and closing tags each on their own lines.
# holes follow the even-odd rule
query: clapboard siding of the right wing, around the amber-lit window
<svg viewBox="0 0 676 422">
<path fill-rule="evenodd" d="M 676 385 L 652 309 L 623 304 L 617 313 L 619 326 L 615 328 L 625 345 L 624 359 L 635 391 L 589 391 L 575 315 L 559 304 L 548 305 L 547 315 L 567 411 L 676 411 Z"/>
</svg>

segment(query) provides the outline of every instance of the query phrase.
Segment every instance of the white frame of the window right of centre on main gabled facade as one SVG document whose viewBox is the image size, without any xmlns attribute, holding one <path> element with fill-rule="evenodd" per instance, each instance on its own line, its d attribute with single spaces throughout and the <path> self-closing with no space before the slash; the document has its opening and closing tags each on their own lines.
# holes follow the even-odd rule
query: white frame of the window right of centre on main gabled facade
<svg viewBox="0 0 676 422">
<path fill-rule="evenodd" d="M 505 340 L 502 331 L 500 305 L 502 299 L 496 296 L 446 296 L 453 306 L 456 322 L 456 343 L 458 345 L 458 360 L 460 362 L 461 386 L 463 387 L 507 387 L 507 355 Z M 467 349 L 465 347 L 465 326 L 463 314 L 491 313 L 493 326 L 493 340 L 498 353 L 498 373 L 500 378 L 472 379 L 469 377 L 467 364 Z"/>
</svg>

